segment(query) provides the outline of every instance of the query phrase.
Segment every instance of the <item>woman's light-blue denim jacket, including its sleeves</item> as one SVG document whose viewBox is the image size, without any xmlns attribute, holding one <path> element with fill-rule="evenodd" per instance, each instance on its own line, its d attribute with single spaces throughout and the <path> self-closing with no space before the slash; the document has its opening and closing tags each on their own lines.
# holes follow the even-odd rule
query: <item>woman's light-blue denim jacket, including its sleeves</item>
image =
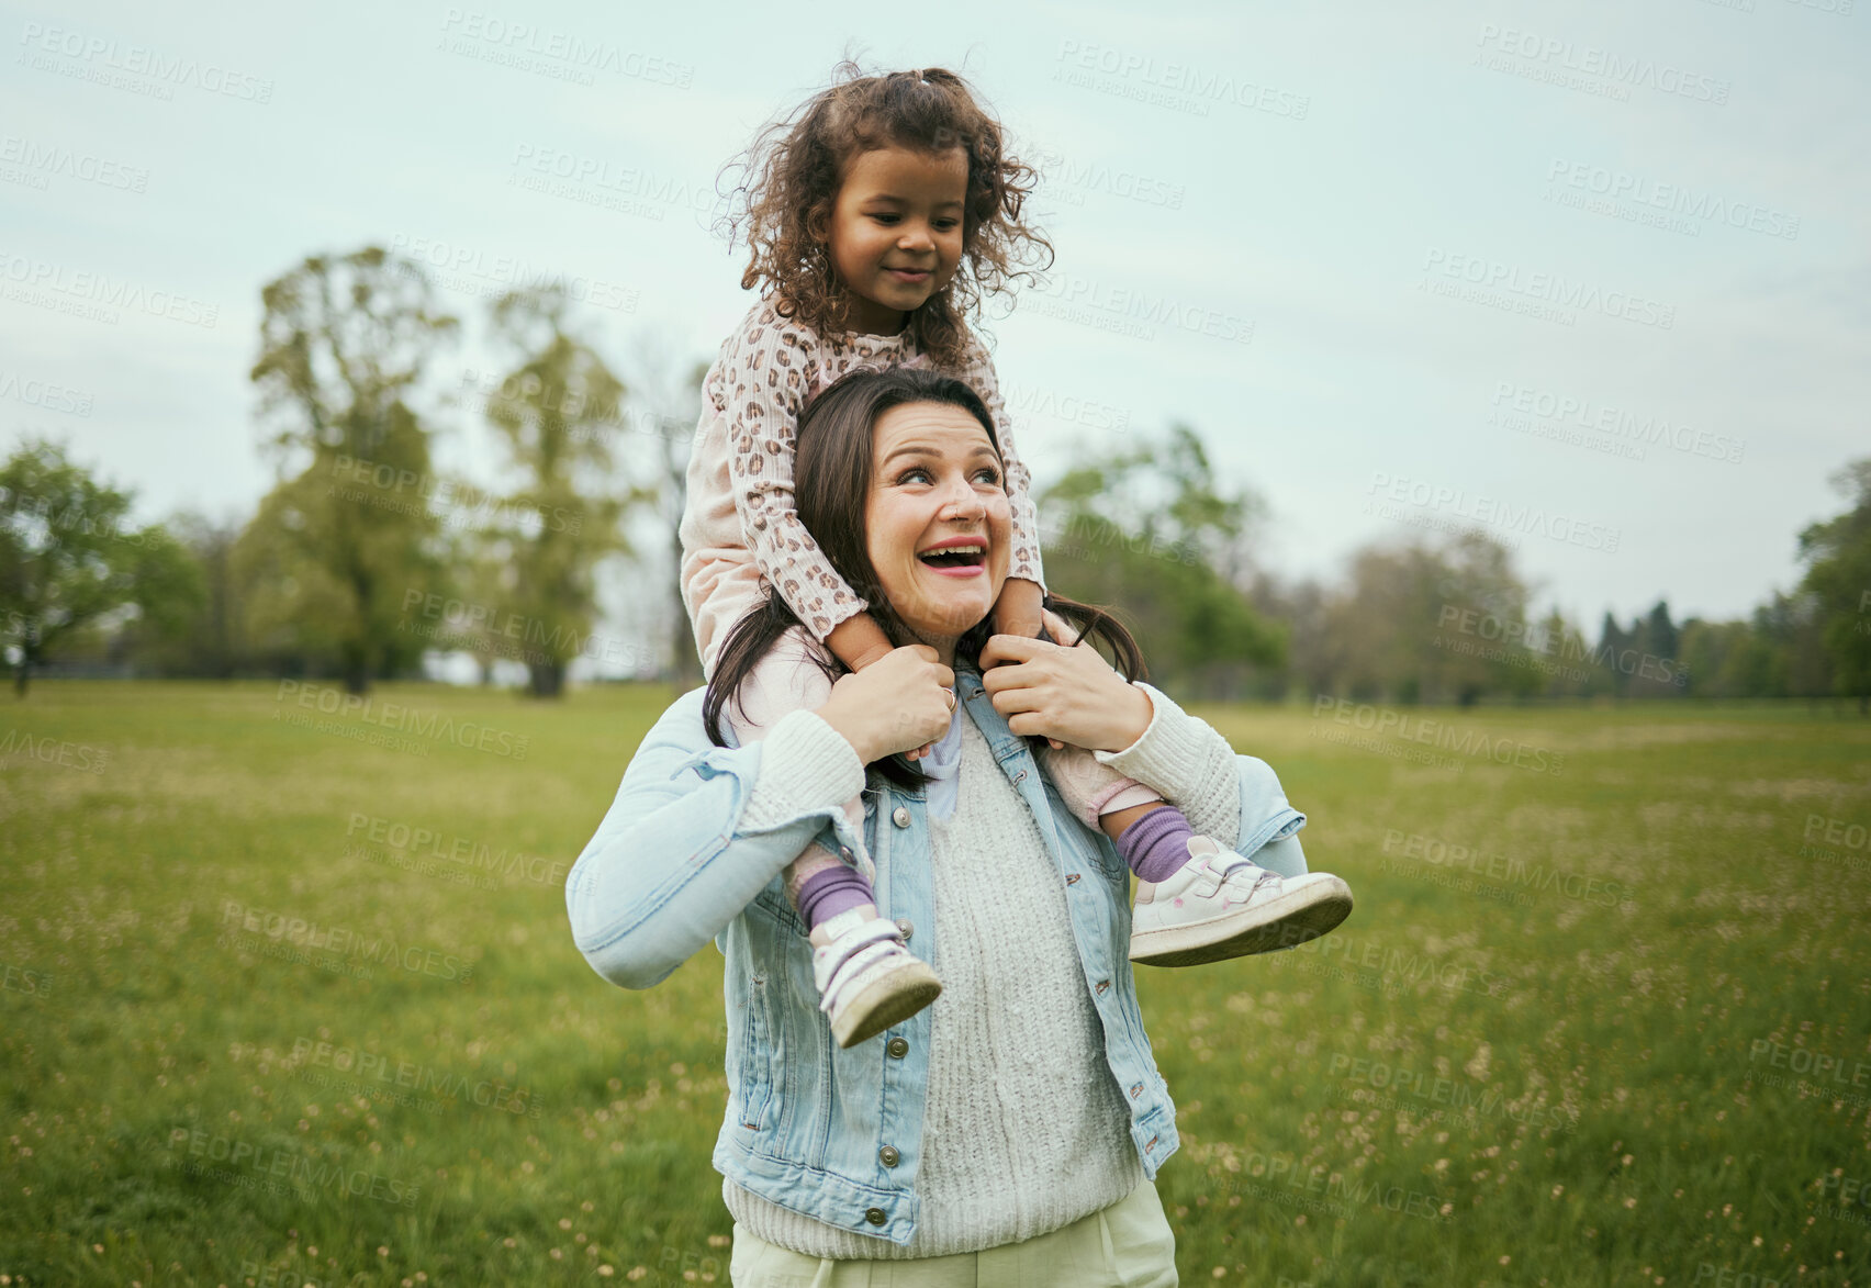
<svg viewBox="0 0 1871 1288">
<path fill-rule="evenodd" d="M 1085 988 L 1102 1020 L 1106 1060 L 1130 1110 L 1130 1138 L 1143 1174 L 1154 1179 L 1179 1136 L 1130 972 L 1130 872 L 1110 839 L 1072 816 L 1025 738 L 994 710 L 980 674 L 958 665 L 956 693 L 1033 811 L 1053 857 Z M 573 865 L 573 938 L 601 975 L 647 988 L 711 934 L 726 957 L 728 1009 L 728 1108 L 715 1168 L 825 1224 L 909 1243 L 921 1202 L 915 1181 L 930 1009 L 840 1048 L 818 1005 L 812 945 L 786 899 L 782 871 L 814 835 L 844 850 L 848 861 L 863 844 L 876 863 L 879 914 L 896 919 L 909 951 L 939 973 L 941 927 L 922 788 L 874 779 L 864 790 L 863 839 L 851 835 L 836 807 L 801 811 L 776 829 L 739 831 L 765 743 L 711 745 L 702 698 L 702 689 L 677 698 L 644 738 L 617 799 Z M 1239 760 L 1240 839 L 1248 852 L 1291 833 L 1304 816 L 1285 805 L 1263 762 Z"/>
</svg>

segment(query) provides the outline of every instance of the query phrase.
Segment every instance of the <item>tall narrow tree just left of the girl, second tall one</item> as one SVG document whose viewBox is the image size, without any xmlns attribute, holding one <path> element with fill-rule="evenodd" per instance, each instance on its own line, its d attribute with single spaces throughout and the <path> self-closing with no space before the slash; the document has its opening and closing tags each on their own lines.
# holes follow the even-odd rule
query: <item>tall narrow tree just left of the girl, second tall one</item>
<svg viewBox="0 0 1871 1288">
<path fill-rule="evenodd" d="M 625 388 L 597 352 L 567 328 L 558 285 L 501 296 L 494 333 L 516 356 L 501 395 L 486 404 L 505 436 L 520 487 L 505 498 L 509 550 L 505 607 L 524 622 L 533 696 L 559 696 L 565 668 L 597 616 L 593 569 L 623 554 L 623 515 L 653 498 L 619 485 L 606 429 L 621 419 Z M 511 393 L 509 393 L 511 389 Z"/>
</svg>

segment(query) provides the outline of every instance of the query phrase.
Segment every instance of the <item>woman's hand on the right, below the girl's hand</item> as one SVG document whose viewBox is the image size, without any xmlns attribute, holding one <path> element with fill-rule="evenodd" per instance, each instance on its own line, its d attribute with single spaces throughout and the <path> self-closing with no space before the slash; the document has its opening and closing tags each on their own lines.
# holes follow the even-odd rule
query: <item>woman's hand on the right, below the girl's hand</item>
<svg viewBox="0 0 1871 1288">
<path fill-rule="evenodd" d="M 1143 738 L 1154 708 L 1091 644 L 1061 648 L 995 635 L 980 650 L 980 683 L 1007 728 L 1085 747 L 1123 751 Z"/>
</svg>

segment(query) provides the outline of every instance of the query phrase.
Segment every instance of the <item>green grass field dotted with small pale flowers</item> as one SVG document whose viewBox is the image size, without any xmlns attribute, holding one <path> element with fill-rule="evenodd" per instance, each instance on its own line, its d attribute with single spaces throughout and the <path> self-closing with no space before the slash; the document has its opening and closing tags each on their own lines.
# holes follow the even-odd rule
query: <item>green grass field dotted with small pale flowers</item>
<svg viewBox="0 0 1871 1288">
<path fill-rule="evenodd" d="M 728 1282 L 720 957 L 565 921 L 670 696 L 7 702 L 0 1284 Z M 1184 1284 L 1871 1282 L 1871 723 L 1197 710 L 1358 906 L 1139 972 Z"/>
</svg>

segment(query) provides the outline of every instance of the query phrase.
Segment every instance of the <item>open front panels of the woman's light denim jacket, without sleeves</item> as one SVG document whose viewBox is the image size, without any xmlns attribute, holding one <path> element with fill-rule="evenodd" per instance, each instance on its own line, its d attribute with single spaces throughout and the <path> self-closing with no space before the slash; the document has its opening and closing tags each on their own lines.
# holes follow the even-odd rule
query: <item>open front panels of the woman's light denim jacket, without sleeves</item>
<svg viewBox="0 0 1871 1288">
<path fill-rule="evenodd" d="M 1156 1073 L 1130 975 L 1130 871 L 1104 833 L 1072 818 L 1027 739 L 994 710 L 980 674 L 958 666 L 956 693 L 1033 811 L 1066 887 L 1085 988 L 1104 1022 L 1106 1060 L 1130 1106 L 1143 1174 L 1154 1178 L 1177 1149 L 1175 1105 Z M 877 867 L 877 912 L 904 925 L 909 951 L 941 973 L 922 788 L 881 779 L 866 788 L 864 844 Z M 921 1204 L 915 1179 L 932 1009 L 840 1048 L 818 1009 L 806 927 L 780 878 L 728 923 L 717 945 L 728 957 L 728 1116 L 715 1168 L 827 1224 L 907 1243 Z"/>
</svg>

